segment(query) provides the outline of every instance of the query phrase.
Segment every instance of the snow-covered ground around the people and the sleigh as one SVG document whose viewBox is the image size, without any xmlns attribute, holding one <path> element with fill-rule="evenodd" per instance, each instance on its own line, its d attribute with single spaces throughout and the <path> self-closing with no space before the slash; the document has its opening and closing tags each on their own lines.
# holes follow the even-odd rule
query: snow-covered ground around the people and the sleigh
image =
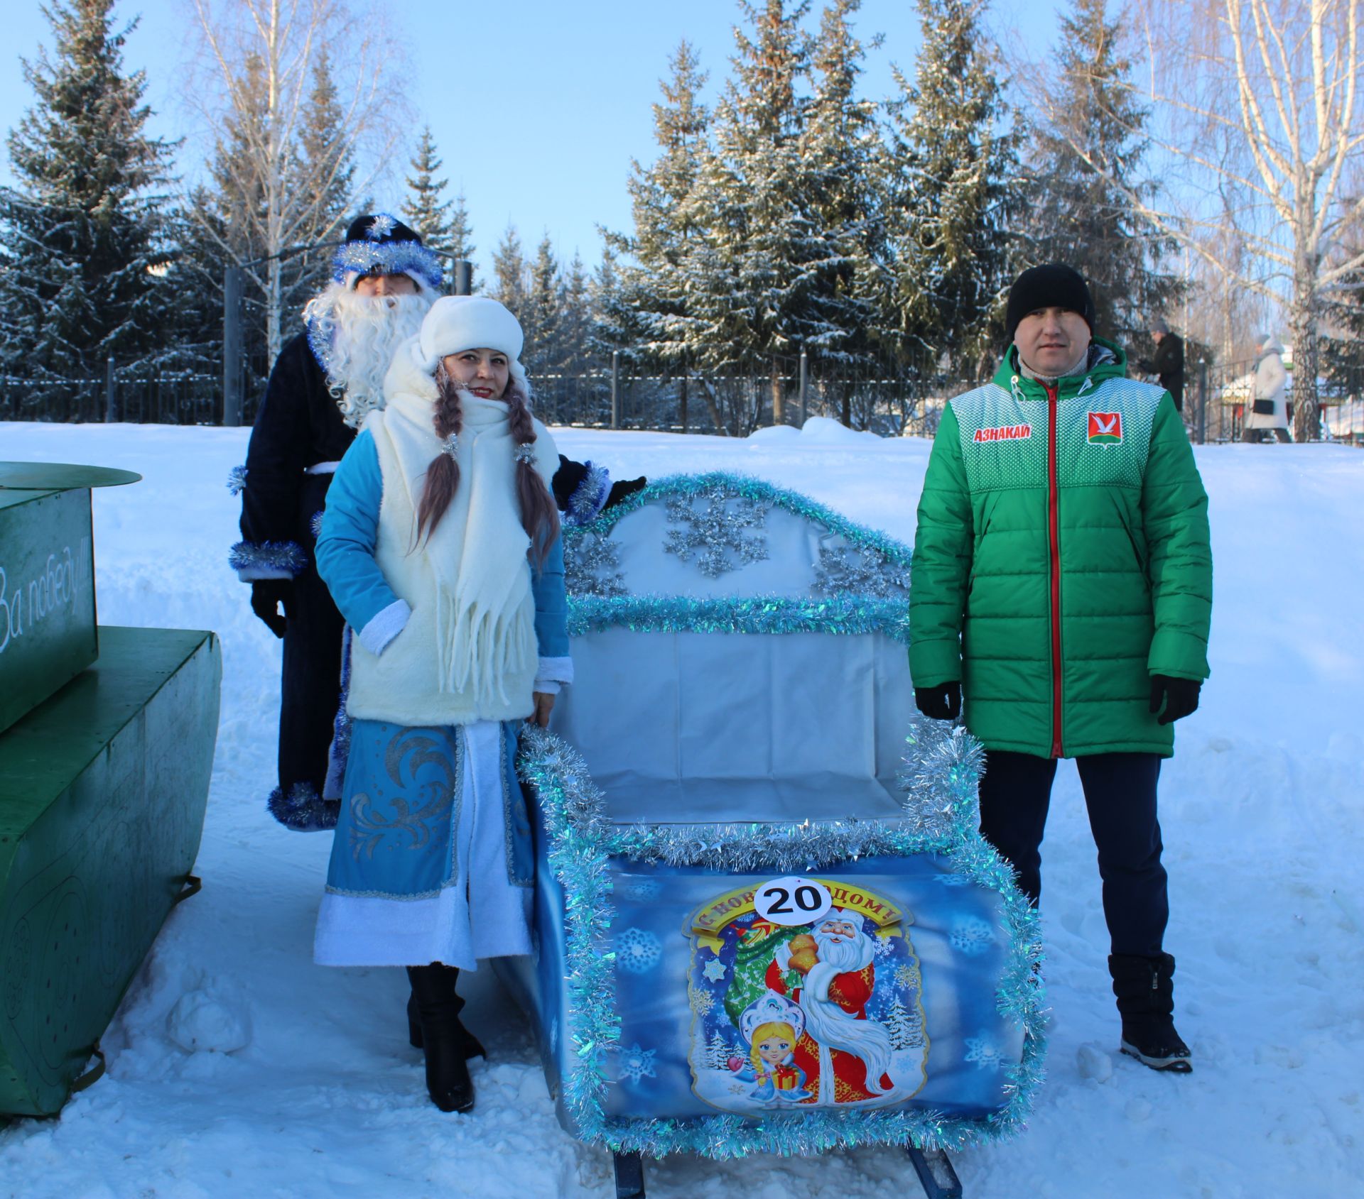
<svg viewBox="0 0 1364 1199">
<path fill-rule="evenodd" d="M 101 620 L 217 629 L 225 668 L 203 892 L 173 912 L 115 1018 L 108 1076 L 60 1119 L 0 1131 L 0 1195 L 606 1196 L 607 1155 L 559 1131 L 488 970 L 464 989 L 492 1061 L 475 1068 L 476 1112 L 458 1117 L 426 1098 L 400 971 L 312 965 L 329 839 L 266 815 L 280 644 L 225 564 L 237 503 L 222 481 L 247 436 L 0 424 L 0 459 L 146 477 L 95 493 Z M 929 454 L 928 441 L 827 428 L 557 436 L 617 477 L 747 471 L 904 541 Z M 1364 1195 L 1364 454 L 1228 446 L 1198 461 L 1217 570 L 1213 679 L 1161 793 L 1168 948 L 1195 1072 L 1155 1075 L 1114 1053 L 1094 847 L 1067 763 L 1045 845 L 1049 1079 L 1023 1136 L 956 1158 L 968 1199 Z M 181 1048 L 195 1033 L 210 1048 Z M 216 1037 L 226 1048 L 244 1036 L 211 1052 Z M 697 1199 L 918 1194 L 885 1149 L 672 1158 L 649 1165 L 648 1184 Z"/>
</svg>

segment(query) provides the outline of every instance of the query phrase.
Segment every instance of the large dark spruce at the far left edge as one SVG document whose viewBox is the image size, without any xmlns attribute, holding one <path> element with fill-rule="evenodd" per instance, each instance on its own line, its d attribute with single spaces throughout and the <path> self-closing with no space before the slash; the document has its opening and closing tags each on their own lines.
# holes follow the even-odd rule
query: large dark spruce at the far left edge
<svg viewBox="0 0 1364 1199">
<path fill-rule="evenodd" d="M 112 0 L 52 0 L 53 50 L 25 60 L 34 104 L 10 134 L 15 185 L 0 188 L 0 371 L 35 411 L 100 379 L 113 358 L 147 369 L 169 300 L 160 271 L 172 147 L 146 134 L 146 78 L 123 72 L 136 23 Z"/>
</svg>

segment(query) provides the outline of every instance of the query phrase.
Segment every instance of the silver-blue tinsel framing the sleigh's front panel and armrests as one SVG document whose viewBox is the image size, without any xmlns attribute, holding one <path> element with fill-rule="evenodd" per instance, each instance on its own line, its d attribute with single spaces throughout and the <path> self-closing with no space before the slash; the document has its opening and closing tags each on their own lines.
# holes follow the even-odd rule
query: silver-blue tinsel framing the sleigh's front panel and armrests
<svg viewBox="0 0 1364 1199">
<path fill-rule="evenodd" d="M 653 1157 L 689 1151 L 712 1158 L 750 1153 L 786 1155 L 836 1146 L 908 1144 L 962 1149 L 1016 1134 L 1042 1080 L 1043 989 L 1037 967 L 1042 950 L 1037 913 L 1013 882 L 1013 872 L 977 831 L 975 789 L 982 751 L 962 728 L 918 721 L 907 738 L 906 819 L 861 824 L 762 824 L 686 827 L 615 826 L 602 792 L 577 751 L 552 733 L 528 728 L 517 766 L 535 788 L 550 834 L 548 858 L 565 894 L 566 1012 L 574 1065 L 563 1079 L 563 1100 L 591 1144 Z M 608 1085 L 606 1055 L 618 1048 L 615 954 L 608 862 L 612 857 L 704 865 L 724 872 L 820 868 L 868 853 L 933 853 L 951 860 L 964 879 L 1004 897 L 1009 956 L 998 989 L 1000 1011 L 1024 1029 L 1023 1060 L 1008 1067 L 1005 1108 L 985 1120 L 926 1110 L 836 1112 L 814 1109 L 790 1117 L 707 1116 L 690 1120 L 614 1119 L 603 1110 Z"/>
</svg>

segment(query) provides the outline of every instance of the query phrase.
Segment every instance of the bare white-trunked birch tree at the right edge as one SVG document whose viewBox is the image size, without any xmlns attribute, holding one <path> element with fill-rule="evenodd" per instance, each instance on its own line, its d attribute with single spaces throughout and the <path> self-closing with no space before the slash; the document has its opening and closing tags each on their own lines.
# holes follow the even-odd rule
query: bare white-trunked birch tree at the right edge
<svg viewBox="0 0 1364 1199">
<path fill-rule="evenodd" d="M 1364 0 L 1159 0 L 1146 20 L 1155 140 L 1185 178 L 1176 203 L 1143 210 L 1229 286 L 1286 307 L 1294 436 L 1314 439 L 1320 320 L 1364 267 L 1339 252 L 1364 214 Z M 1249 271 L 1218 259 L 1229 226 Z"/>
</svg>

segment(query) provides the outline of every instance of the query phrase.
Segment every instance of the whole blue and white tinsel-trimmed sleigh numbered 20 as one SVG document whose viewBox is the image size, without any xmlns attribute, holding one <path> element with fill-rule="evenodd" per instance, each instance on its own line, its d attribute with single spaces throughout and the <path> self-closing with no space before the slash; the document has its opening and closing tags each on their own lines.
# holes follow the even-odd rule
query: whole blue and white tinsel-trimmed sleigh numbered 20
<svg viewBox="0 0 1364 1199">
<path fill-rule="evenodd" d="M 1016 1131 L 1035 917 L 977 831 L 981 749 L 919 719 L 908 549 L 723 474 L 566 530 L 576 681 L 529 732 L 536 952 L 505 963 L 563 1127 L 615 1154 Z M 959 1192 L 959 1188 L 956 1189 Z"/>
</svg>

